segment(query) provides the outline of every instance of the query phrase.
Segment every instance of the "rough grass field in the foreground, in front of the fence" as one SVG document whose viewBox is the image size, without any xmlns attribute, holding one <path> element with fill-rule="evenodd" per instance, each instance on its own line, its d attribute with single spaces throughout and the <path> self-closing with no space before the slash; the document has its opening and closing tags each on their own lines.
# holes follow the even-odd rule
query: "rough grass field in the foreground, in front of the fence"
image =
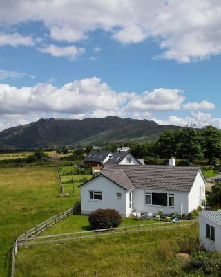
<svg viewBox="0 0 221 277">
<path fill-rule="evenodd" d="M 175 252 L 198 247 L 198 226 L 19 248 L 16 277 L 198 276 Z M 97 271 L 97 275 L 95 275 Z"/>
</svg>

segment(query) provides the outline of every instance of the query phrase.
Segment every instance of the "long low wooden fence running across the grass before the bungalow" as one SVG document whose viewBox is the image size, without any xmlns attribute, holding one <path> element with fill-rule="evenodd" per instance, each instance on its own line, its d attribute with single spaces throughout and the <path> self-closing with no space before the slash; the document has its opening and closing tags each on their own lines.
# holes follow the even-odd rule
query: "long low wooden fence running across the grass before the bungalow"
<svg viewBox="0 0 221 277">
<path fill-rule="evenodd" d="M 63 233 L 56 235 L 43 235 L 33 238 L 19 238 L 17 240 L 17 246 L 29 246 L 33 244 L 46 244 L 54 242 L 64 242 L 67 240 L 81 240 L 83 238 L 95 238 L 99 236 L 119 235 L 122 233 L 140 232 L 140 231 L 154 231 L 160 229 L 171 229 L 184 226 L 192 226 L 197 224 L 198 220 L 182 220 L 180 222 L 159 222 L 150 224 L 136 224 L 121 226 L 117 228 L 98 229 L 90 231 L 80 231 L 75 233 Z"/>
</svg>

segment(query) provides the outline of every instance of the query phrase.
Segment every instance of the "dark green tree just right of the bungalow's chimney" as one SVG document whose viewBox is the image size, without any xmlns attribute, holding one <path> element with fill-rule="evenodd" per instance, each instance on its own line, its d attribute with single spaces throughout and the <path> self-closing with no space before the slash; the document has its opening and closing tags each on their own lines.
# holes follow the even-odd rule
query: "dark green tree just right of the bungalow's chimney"
<svg viewBox="0 0 221 277">
<path fill-rule="evenodd" d="M 202 158 L 203 152 L 200 145 L 200 132 L 191 127 L 184 127 L 178 132 L 177 153 L 180 157 L 187 159 L 190 163 L 191 159 Z"/>
</svg>

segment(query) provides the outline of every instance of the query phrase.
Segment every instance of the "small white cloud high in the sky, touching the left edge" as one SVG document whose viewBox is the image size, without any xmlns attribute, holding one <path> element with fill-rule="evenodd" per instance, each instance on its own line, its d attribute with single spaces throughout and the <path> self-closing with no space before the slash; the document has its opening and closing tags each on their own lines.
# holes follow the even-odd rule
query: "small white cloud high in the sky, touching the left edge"
<svg viewBox="0 0 221 277">
<path fill-rule="evenodd" d="M 6 34 L 0 32 L 0 46 L 10 45 L 17 47 L 19 45 L 33 46 L 34 44 L 34 39 L 31 36 L 23 36 L 19 33 Z"/>
</svg>

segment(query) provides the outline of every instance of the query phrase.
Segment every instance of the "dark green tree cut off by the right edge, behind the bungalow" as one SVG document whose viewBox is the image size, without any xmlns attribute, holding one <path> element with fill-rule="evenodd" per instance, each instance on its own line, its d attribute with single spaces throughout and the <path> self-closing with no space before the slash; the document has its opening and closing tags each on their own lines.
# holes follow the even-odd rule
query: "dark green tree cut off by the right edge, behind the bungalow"
<svg viewBox="0 0 221 277">
<path fill-rule="evenodd" d="M 209 163 L 214 158 L 221 155 L 221 132 L 213 126 L 206 126 L 202 128 L 202 146 L 204 148 L 204 157 L 208 159 Z"/>
</svg>

